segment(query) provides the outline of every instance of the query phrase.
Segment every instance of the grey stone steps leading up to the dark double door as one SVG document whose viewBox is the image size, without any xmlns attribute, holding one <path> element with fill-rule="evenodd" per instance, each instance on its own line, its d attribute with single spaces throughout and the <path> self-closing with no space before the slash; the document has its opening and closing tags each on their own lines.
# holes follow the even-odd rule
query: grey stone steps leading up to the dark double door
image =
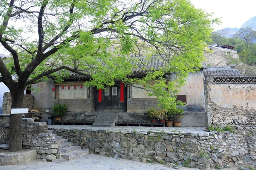
<svg viewBox="0 0 256 170">
<path fill-rule="evenodd" d="M 117 119 L 117 113 L 99 113 L 92 126 L 113 127 Z"/>
</svg>

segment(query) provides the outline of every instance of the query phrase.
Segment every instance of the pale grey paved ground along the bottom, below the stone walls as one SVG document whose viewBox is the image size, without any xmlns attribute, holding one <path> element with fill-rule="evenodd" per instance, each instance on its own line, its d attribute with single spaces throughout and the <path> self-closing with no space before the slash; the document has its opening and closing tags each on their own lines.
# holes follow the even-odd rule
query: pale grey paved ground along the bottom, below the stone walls
<svg viewBox="0 0 256 170">
<path fill-rule="evenodd" d="M 222 170 L 238 170 L 239 167 Z M 163 164 L 148 164 L 127 159 L 114 159 L 95 154 L 62 163 L 44 162 L 35 159 L 26 164 L 0 166 L 0 170 L 174 170 Z M 199 170 L 197 168 L 179 167 L 179 170 Z M 211 168 L 209 170 L 215 170 Z"/>
</svg>

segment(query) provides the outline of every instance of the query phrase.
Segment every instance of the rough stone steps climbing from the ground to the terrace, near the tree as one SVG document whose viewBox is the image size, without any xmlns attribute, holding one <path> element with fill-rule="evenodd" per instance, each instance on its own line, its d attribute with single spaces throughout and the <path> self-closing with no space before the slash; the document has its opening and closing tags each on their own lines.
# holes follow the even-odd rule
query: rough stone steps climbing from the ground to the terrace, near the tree
<svg viewBox="0 0 256 170">
<path fill-rule="evenodd" d="M 48 130 L 47 133 L 52 133 L 52 130 Z M 66 139 L 64 136 L 56 135 L 54 139 L 49 140 L 48 142 L 58 142 L 59 144 L 61 144 L 61 151 L 59 152 L 58 159 L 53 160 L 53 162 L 72 160 L 87 155 L 89 153 L 89 150 L 81 149 L 81 146 L 74 146 L 72 142 L 68 142 L 68 139 Z"/>
</svg>

